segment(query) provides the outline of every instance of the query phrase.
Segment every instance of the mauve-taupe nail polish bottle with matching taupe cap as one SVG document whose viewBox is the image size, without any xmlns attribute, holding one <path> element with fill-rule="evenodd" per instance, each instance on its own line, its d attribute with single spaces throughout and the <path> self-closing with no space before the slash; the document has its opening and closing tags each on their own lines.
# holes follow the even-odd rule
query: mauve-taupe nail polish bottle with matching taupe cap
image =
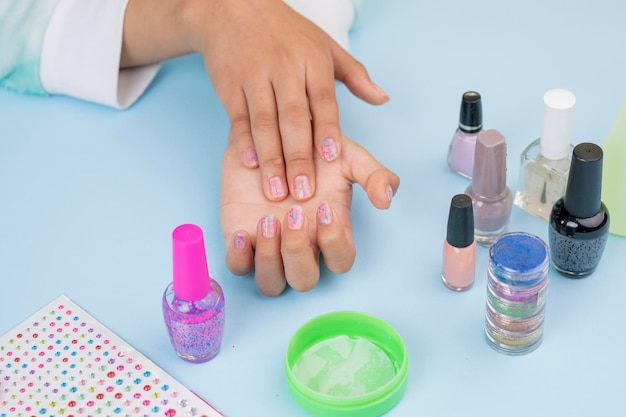
<svg viewBox="0 0 626 417">
<path fill-rule="evenodd" d="M 506 140 L 495 129 L 478 134 L 472 183 L 465 194 L 473 202 L 474 238 L 489 247 L 506 233 L 513 207 L 506 185 Z"/>
</svg>

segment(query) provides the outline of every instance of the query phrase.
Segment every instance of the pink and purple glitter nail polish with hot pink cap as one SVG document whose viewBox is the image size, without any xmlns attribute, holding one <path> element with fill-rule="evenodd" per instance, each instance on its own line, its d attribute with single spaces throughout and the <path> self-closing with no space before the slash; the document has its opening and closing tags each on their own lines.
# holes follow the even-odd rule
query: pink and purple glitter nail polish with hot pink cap
<svg viewBox="0 0 626 417">
<path fill-rule="evenodd" d="M 163 317 L 176 354 L 192 363 L 219 352 L 224 333 L 224 293 L 209 276 L 202 229 L 183 224 L 172 233 L 173 282 L 163 294 Z"/>
</svg>

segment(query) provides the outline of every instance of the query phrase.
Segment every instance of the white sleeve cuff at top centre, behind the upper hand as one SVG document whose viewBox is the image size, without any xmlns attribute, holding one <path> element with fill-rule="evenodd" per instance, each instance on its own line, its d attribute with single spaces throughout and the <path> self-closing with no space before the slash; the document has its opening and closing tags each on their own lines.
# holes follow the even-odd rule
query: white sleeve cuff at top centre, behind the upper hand
<svg viewBox="0 0 626 417">
<path fill-rule="evenodd" d="M 285 0 L 285 2 L 348 50 L 348 33 L 356 16 L 353 0 Z"/>
</svg>

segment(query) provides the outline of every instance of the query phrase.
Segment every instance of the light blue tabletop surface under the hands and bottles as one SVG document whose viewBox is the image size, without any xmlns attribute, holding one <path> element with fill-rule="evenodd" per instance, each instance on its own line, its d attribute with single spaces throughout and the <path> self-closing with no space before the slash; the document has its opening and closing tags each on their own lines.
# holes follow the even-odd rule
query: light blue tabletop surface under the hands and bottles
<svg viewBox="0 0 626 417">
<path fill-rule="evenodd" d="M 352 309 L 406 343 L 407 391 L 389 416 L 622 415 L 625 238 L 609 237 L 589 278 L 551 272 L 544 342 L 523 357 L 484 340 L 487 250 L 467 293 L 444 288 L 440 272 L 449 201 L 468 185 L 445 163 L 462 93 L 479 91 L 485 127 L 506 136 L 514 190 L 548 89 L 577 96 L 574 144 L 603 143 L 626 99 L 625 17 L 619 0 L 368 2 L 351 50 L 391 101 L 373 107 L 338 87 L 342 127 L 401 186 L 389 211 L 355 192 L 349 273 L 325 270 L 313 291 L 278 298 L 224 264 L 228 121 L 199 57 L 166 63 L 127 111 L 0 91 L 0 333 L 65 293 L 226 415 L 297 417 L 283 375 L 291 334 Z M 222 350 L 201 365 L 175 356 L 160 310 L 170 234 L 185 222 L 204 229 L 227 301 Z M 546 223 L 518 208 L 511 230 L 547 240 Z"/>
</svg>

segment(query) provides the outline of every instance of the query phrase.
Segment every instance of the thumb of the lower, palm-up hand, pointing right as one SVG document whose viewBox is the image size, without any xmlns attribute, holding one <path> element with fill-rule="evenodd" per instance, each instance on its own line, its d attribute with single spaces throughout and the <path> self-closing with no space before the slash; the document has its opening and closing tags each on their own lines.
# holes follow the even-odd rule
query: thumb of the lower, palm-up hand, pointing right
<svg viewBox="0 0 626 417">
<path fill-rule="evenodd" d="M 354 152 L 351 180 L 367 192 L 374 207 L 388 209 L 400 186 L 400 178 L 378 162 L 365 148 L 344 137 Z"/>
</svg>

